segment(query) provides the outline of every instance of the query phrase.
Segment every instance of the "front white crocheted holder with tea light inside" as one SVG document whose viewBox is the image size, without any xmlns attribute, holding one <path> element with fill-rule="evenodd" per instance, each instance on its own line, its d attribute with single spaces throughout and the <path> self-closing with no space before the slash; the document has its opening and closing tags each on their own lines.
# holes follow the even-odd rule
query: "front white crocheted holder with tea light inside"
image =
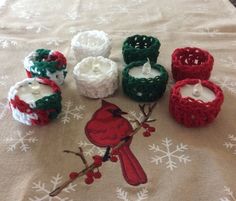
<svg viewBox="0 0 236 201">
<path fill-rule="evenodd" d="M 117 64 L 102 56 L 83 59 L 73 74 L 78 91 L 90 98 L 112 95 L 119 85 Z"/>
</svg>

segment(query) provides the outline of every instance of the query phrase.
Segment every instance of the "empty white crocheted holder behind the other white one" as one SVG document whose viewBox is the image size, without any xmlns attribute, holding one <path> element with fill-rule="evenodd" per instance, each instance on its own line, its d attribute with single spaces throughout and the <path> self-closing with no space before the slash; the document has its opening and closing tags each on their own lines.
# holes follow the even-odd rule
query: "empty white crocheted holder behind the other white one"
<svg viewBox="0 0 236 201">
<path fill-rule="evenodd" d="M 108 58 L 111 52 L 111 38 L 104 31 L 79 32 L 72 38 L 71 48 L 78 61 L 89 56 Z"/>
</svg>

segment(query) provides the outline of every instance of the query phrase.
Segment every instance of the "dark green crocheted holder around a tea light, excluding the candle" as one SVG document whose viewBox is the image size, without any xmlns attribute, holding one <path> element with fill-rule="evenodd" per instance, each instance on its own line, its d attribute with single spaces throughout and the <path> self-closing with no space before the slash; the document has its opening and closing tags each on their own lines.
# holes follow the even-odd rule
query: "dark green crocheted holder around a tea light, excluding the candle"
<svg viewBox="0 0 236 201">
<path fill-rule="evenodd" d="M 151 63 L 151 67 L 160 72 L 154 78 L 135 78 L 129 74 L 131 68 L 142 66 L 146 61 L 136 61 L 127 65 L 122 72 L 122 87 L 124 93 L 139 102 L 151 102 L 162 97 L 166 90 L 168 73 L 159 64 Z"/>
</svg>

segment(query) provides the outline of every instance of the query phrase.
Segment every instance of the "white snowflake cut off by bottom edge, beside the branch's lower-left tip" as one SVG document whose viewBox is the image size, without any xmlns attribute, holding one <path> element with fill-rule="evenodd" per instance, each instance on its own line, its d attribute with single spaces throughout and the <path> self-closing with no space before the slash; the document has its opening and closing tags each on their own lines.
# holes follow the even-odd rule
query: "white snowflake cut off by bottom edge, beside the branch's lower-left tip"
<svg viewBox="0 0 236 201">
<path fill-rule="evenodd" d="M 46 187 L 46 184 L 42 181 L 38 181 L 38 182 L 34 182 L 32 188 L 35 190 L 35 192 L 37 193 L 36 196 L 34 197 L 30 197 L 29 200 L 30 201 L 52 201 L 52 200 L 59 200 L 59 201 L 73 201 L 72 199 L 65 197 L 62 194 L 55 196 L 54 198 L 49 196 L 49 193 L 51 191 L 53 191 L 56 187 L 58 187 L 62 182 L 62 176 L 60 176 L 60 174 L 57 174 L 56 176 L 52 177 L 52 179 L 50 180 L 51 183 L 51 188 L 48 189 Z M 77 186 L 77 184 L 69 184 L 69 186 L 67 188 L 65 188 L 62 192 L 65 193 L 71 193 L 72 191 L 75 191 L 75 187 Z M 63 197 L 62 197 L 63 196 Z"/>
</svg>

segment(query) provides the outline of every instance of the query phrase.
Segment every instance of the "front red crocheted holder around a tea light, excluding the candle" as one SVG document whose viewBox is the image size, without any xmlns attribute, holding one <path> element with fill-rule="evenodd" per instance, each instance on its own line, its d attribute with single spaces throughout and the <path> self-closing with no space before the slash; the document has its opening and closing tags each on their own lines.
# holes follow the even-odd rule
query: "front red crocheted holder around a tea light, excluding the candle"
<svg viewBox="0 0 236 201">
<path fill-rule="evenodd" d="M 211 123 L 218 115 L 224 101 L 221 88 L 208 80 L 202 80 L 201 84 L 215 93 L 216 98 L 211 102 L 195 100 L 191 97 L 183 98 L 180 88 L 186 84 L 194 85 L 198 79 L 185 79 L 178 81 L 171 89 L 169 111 L 178 123 L 186 127 L 199 127 Z"/>
</svg>

